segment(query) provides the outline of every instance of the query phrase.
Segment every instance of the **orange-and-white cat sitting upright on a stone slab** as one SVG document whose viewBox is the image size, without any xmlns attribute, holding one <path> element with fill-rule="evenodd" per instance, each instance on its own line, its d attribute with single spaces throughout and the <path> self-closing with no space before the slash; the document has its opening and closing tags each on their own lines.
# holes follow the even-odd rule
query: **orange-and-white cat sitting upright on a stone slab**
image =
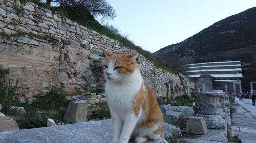
<svg viewBox="0 0 256 143">
<path fill-rule="evenodd" d="M 111 112 L 111 143 L 135 143 L 157 140 L 163 126 L 163 114 L 153 91 L 143 81 L 136 62 L 137 53 L 113 54 L 104 51 L 105 93 Z"/>
</svg>

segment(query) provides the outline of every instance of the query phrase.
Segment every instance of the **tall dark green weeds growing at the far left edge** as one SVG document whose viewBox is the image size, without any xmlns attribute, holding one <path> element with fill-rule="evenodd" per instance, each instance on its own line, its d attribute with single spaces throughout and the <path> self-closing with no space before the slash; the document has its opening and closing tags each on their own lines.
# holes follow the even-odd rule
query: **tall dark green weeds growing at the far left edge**
<svg viewBox="0 0 256 143">
<path fill-rule="evenodd" d="M 10 106 L 15 106 L 18 103 L 15 97 L 18 80 L 12 87 L 13 80 L 6 77 L 9 70 L 0 68 L 0 104 L 3 106 L 1 112 L 7 115 L 10 113 Z"/>
</svg>

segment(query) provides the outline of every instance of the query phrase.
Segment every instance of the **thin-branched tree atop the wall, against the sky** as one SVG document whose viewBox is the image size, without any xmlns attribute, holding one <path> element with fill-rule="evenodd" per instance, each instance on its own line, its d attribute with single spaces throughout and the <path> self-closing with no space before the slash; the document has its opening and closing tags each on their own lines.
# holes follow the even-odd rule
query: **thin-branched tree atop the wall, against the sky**
<svg viewBox="0 0 256 143">
<path fill-rule="evenodd" d="M 114 18 L 116 13 L 114 8 L 105 0 L 47 0 L 58 2 L 60 6 L 73 9 L 78 13 L 90 12 L 92 15 Z"/>
</svg>

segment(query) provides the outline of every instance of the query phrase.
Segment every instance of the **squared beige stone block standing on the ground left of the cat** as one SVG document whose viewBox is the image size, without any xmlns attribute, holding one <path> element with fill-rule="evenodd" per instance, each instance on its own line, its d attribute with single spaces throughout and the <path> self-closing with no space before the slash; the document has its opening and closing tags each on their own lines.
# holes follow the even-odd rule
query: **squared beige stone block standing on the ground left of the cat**
<svg viewBox="0 0 256 143">
<path fill-rule="evenodd" d="M 70 102 L 63 120 L 71 123 L 86 122 L 88 103 L 84 101 Z"/>
</svg>

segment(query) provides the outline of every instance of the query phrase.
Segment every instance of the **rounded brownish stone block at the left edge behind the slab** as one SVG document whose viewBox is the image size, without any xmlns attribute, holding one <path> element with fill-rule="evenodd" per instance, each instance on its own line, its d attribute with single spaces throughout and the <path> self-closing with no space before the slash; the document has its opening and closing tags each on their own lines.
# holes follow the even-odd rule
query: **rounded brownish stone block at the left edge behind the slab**
<svg viewBox="0 0 256 143">
<path fill-rule="evenodd" d="M 17 123 L 10 117 L 0 117 L 0 132 L 19 130 Z"/>
</svg>

